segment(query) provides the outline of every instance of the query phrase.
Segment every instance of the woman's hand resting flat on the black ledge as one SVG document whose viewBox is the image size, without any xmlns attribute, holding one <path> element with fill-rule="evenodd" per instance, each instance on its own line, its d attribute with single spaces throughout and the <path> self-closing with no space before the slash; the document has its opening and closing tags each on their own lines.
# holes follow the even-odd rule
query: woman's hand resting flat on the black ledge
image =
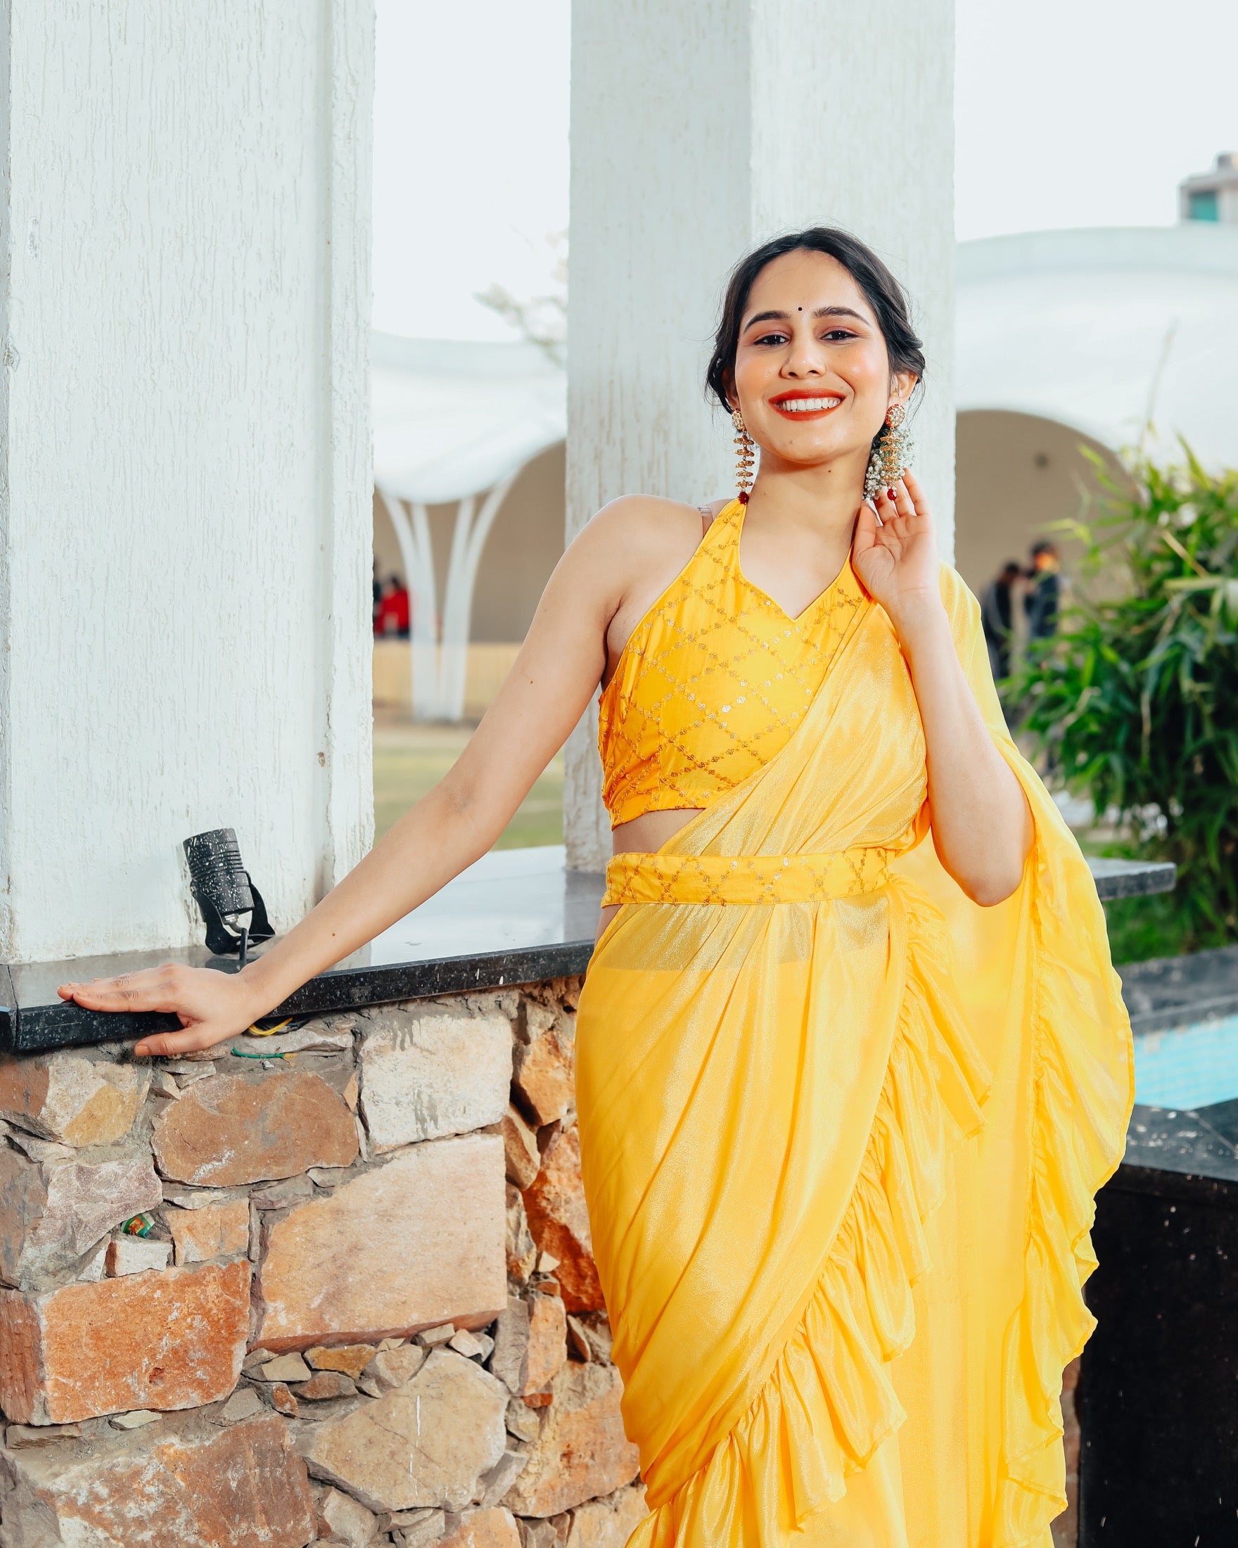
<svg viewBox="0 0 1238 1548">
<path fill-rule="evenodd" d="M 152 1033 L 135 1054 L 187 1054 L 214 1048 L 237 1037 L 265 1015 L 269 1006 L 254 1000 L 245 974 L 218 972 L 215 968 L 145 968 L 118 978 L 90 983 L 62 983 L 56 991 L 87 1011 L 162 1011 L 180 1017 L 183 1031 Z"/>
</svg>

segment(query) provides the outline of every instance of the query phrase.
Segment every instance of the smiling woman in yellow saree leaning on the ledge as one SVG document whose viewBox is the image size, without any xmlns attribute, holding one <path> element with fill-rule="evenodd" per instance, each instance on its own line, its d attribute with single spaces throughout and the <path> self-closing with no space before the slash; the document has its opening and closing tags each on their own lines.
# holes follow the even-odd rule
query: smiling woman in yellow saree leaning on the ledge
<svg viewBox="0 0 1238 1548">
<path fill-rule="evenodd" d="M 1130 1029 L 902 477 L 922 373 L 860 243 L 758 249 L 710 367 L 751 502 L 741 429 L 738 500 L 602 511 L 452 774 L 241 974 L 60 991 L 178 1012 L 139 1053 L 235 1036 L 484 853 L 602 681 L 577 1101 L 636 1548 L 1051 1548 L 1065 1506 Z"/>
</svg>

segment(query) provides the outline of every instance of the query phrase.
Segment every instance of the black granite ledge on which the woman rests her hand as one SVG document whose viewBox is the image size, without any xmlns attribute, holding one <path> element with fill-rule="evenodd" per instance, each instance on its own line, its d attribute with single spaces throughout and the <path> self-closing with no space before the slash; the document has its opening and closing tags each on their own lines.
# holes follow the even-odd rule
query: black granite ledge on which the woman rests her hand
<svg viewBox="0 0 1238 1548">
<path fill-rule="evenodd" d="M 1088 862 L 1102 898 L 1173 887 L 1173 865 Z M 303 985 L 274 1012 L 311 1015 L 463 989 L 497 989 L 580 974 L 588 966 L 602 876 L 565 870 L 562 847 L 495 850 L 367 947 Z M 104 978 L 166 961 L 235 969 L 206 947 L 118 952 L 56 963 L 0 966 L 0 1048 L 32 1053 L 166 1031 L 170 1015 L 104 1015 L 67 1005 L 65 978 Z"/>
</svg>

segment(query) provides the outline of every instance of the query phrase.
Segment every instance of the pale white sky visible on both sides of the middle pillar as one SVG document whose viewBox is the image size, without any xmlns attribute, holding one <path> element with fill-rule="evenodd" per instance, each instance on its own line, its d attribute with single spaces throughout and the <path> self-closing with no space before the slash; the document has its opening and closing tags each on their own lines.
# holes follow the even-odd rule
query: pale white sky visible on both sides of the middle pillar
<svg viewBox="0 0 1238 1548">
<path fill-rule="evenodd" d="M 376 328 L 512 337 L 474 293 L 545 288 L 569 9 L 378 0 Z M 1178 180 L 1238 150 L 1238 0 L 958 0 L 956 57 L 961 238 L 1171 224 Z"/>
</svg>

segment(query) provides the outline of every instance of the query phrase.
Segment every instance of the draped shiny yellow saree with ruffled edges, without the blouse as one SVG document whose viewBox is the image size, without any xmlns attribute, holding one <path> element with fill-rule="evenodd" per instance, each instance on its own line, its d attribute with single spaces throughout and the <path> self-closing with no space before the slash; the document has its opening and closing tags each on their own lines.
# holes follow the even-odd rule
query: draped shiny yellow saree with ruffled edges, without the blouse
<svg viewBox="0 0 1238 1548">
<path fill-rule="evenodd" d="M 1012 898 L 976 907 L 915 842 L 919 714 L 862 596 L 781 749 L 617 878 L 670 899 L 621 907 L 577 1023 L 638 1548 L 1049 1548 L 1065 1506 L 1058 1392 L 1130 1028 L 975 599 L 946 568 L 942 594 L 1035 819 Z M 720 907 L 686 864 L 665 892 L 667 862 L 857 850 L 885 884 Z"/>
</svg>

